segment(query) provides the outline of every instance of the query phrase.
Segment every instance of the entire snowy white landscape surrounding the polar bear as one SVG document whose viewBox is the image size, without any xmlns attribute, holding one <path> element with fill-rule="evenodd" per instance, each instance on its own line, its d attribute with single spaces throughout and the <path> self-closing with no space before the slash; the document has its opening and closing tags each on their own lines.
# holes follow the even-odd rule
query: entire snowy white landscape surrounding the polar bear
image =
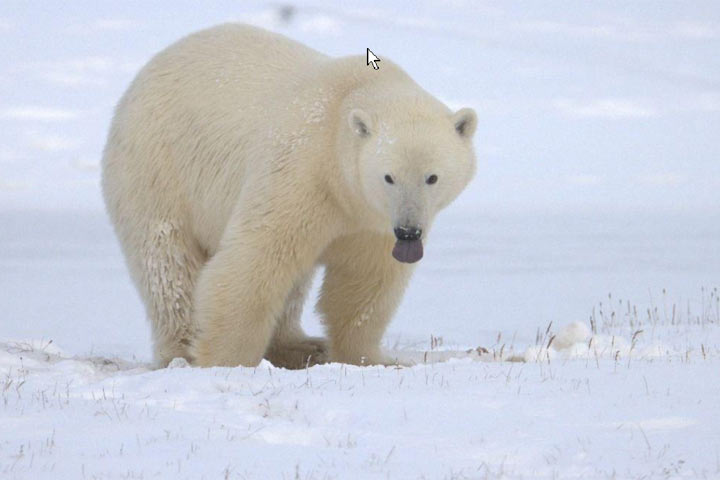
<svg viewBox="0 0 720 480">
<path fill-rule="evenodd" d="M 386 336 L 418 365 L 148 369 L 100 151 L 227 20 L 477 109 Z M 718 51 L 715 2 L 2 2 L 0 478 L 720 478 Z"/>
</svg>

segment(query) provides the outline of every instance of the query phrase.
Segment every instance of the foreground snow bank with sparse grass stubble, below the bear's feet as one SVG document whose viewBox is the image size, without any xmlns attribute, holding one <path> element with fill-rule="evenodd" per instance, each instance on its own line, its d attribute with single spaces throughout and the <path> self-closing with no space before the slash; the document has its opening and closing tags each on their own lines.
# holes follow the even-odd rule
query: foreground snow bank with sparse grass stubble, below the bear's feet
<svg viewBox="0 0 720 480">
<path fill-rule="evenodd" d="M 695 357 L 168 368 L 2 345 L 8 478 L 714 478 Z M 78 435 L 79 434 L 79 435 Z"/>
</svg>

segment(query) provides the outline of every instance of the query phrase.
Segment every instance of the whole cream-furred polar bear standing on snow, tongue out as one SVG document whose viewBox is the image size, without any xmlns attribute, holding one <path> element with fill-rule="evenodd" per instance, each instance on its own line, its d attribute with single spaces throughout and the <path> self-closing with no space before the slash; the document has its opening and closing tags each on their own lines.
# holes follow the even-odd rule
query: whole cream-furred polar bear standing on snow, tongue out
<svg viewBox="0 0 720 480">
<path fill-rule="evenodd" d="M 385 58 L 250 26 L 156 55 L 115 110 L 102 187 L 157 366 L 394 363 L 383 333 L 473 177 L 476 123 Z M 319 266 L 327 342 L 299 324 Z"/>
</svg>

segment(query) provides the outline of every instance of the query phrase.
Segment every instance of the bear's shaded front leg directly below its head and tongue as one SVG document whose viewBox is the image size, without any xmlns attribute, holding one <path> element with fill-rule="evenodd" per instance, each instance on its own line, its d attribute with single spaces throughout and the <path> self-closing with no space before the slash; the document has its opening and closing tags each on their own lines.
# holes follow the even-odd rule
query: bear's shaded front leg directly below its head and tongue
<svg viewBox="0 0 720 480">
<path fill-rule="evenodd" d="M 394 243 L 390 236 L 363 232 L 335 240 L 324 253 L 318 310 L 330 340 L 330 361 L 397 363 L 380 342 L 413 267 L 392 257 Z"/>
</svg>

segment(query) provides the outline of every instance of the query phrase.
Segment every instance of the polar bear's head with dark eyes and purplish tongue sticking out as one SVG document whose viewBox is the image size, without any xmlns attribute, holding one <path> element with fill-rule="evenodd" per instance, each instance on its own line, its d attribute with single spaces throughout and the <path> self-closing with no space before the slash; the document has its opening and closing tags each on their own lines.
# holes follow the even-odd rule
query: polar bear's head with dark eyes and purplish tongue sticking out
<svg viewBox="0 0 720 480">
<path fill-rule="evenodd" d="M 396 236 L 395 259 L 417 262 L 435 215 L 475 173 L 475 112 L 463 108 L 452 113 L 423 98 L 363 107 L 347 113 L 346 134 L 354 155 L 344 168 L 346 181 L 359 187 L 381 228 Z"/>
</svg>

